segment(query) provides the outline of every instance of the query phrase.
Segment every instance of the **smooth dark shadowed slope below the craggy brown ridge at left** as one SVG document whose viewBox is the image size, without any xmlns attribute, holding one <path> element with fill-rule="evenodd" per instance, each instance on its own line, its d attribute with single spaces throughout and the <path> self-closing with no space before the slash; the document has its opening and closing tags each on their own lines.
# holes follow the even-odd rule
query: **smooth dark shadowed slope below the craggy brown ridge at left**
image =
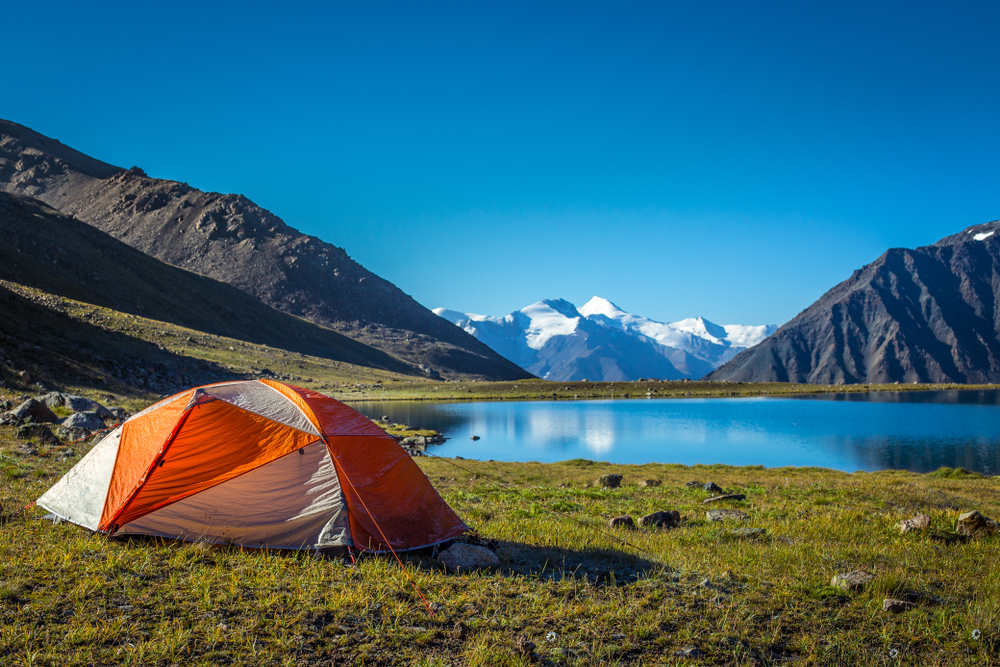
<svg viewBox="0 0 1000 667">
<path fill-rule="evenodd" d="M 30 197 L 0 192 L 0 238 L 0 279 L 5 281 L 218 336 L 419 372 L 230 285 L 165 264 Z"/>
</svg>

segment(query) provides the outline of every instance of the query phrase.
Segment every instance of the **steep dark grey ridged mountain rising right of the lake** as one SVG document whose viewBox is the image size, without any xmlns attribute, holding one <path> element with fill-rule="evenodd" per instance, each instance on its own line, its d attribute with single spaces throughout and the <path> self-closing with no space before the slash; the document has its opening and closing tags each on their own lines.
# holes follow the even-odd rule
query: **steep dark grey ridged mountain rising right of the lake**
<svg viewBox="0 0 1000 667">
<path fill-rule="evenodd" d="M 1000 221 L 887 251 L 709 379 L 1000 382 Z"/>
</svg>

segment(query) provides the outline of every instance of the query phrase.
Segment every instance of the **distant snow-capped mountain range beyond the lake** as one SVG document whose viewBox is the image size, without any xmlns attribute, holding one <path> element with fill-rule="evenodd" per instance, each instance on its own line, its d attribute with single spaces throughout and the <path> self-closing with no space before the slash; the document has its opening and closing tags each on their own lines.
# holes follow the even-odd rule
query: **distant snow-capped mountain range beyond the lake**
<svg viewBox="0 0 1000 667">
<path fill-rule="evenodd" d="M 665 324 L 595 296 L 582 308 L 539 301 L 504 317 L 434 312 L 547 380 L 697 379 L 764 340 L 776 325 L 718 325 L 696 317 Z"/>
</svg>

